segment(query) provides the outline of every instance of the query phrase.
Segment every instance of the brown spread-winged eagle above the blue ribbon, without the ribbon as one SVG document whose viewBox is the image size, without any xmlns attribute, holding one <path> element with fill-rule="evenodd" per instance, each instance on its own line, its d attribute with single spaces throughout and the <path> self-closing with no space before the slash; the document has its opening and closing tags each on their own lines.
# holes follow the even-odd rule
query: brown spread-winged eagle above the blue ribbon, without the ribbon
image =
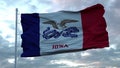
<svg viewBox="0 0 120 68">
<path fill-rule="evenodd" d="M 76 22 L 78 22 L 78 20 L 64 19 L 59 24 L 57 24 L 56 21 L 54 21 L 54 20 L 48 20 L 46 22 L 43 22 L 43 24 L 50 24 L 50 25 L 52 25 L 53 28 L 59 29 L 59 26 L 62 28 L 66 28 L 67 23 L 76 23 Z"/>
</svg>

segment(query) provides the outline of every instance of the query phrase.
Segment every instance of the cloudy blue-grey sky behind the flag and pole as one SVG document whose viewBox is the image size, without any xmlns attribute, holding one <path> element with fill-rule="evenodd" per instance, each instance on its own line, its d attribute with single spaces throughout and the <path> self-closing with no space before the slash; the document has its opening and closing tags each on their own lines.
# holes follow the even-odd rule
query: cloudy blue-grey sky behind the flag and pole
<svg viewBox="0 0 120 68">
<path fill-rule="evenodd" d="M 102 4 L 110 47 L 21 58 L 21 13 L 78 11 Z M 0 0 L 0 68 L 14 68 L 15 9 L 18 8 L 17 68 L 120 68 L 120 0 Z"/>
</svg>

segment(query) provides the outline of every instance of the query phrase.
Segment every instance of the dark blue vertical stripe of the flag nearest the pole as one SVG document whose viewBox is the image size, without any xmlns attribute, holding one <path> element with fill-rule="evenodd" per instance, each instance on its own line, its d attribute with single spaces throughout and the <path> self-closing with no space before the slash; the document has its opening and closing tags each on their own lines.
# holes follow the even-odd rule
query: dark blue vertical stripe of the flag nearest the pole
<svg viewBox="0 0 120 68">
<path fill-rule="evenodd" d="M 21 25 L 23 28 L 21 57 L 40 56 L 39 47 L 39 14 L 21 14 Z"/>
</svg>

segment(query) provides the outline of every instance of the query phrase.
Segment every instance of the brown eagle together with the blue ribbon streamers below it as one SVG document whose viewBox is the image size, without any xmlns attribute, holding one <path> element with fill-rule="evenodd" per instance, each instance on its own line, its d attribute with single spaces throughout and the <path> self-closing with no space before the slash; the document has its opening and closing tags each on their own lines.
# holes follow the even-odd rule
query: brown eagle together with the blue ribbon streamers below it
<svg viewBox="0 0 120 68">
<path fill-rule="evenodd" d="M 76 38 L 78 37 L 78 32 L 79 29 L 76 26 L 70 26 L 67 27 L 67 24 L 70 23 L 76 23 L 78 20 L 73 20 L 73 19 L 64 19 L 60 23 L 57 23 L 54 20 L 50 20 L 48 18 L 42 17 L 43 19 L 47 20 L 45 22 L 42 22 L 43 24 L 49 24 L 51 25 L 54 29 L 51 29 L 50 27 L 47 27 L 43 31 L 42 37 L 44 39 L 51 39 L 51 38 L 59 38 L 59 37 L 70 37 L 70 38 Z M 61 30 L 62 28 L 62 30 Z M 60 30 L 58 30 L 60 29 Z"/>
</svg>

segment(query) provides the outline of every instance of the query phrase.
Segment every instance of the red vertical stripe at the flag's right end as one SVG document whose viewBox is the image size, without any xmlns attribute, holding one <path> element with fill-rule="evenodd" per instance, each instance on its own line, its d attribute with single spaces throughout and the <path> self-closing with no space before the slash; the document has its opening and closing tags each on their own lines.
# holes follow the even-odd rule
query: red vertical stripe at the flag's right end
<svg viewBox="0 0 120 68">
<path fill-rule="evenodd" d="M 83 49 L 108 47 L 108 33 L 103 17 L 104 7 L 97 4 L 80 12 L 83 26 Z"/>
</svg>

